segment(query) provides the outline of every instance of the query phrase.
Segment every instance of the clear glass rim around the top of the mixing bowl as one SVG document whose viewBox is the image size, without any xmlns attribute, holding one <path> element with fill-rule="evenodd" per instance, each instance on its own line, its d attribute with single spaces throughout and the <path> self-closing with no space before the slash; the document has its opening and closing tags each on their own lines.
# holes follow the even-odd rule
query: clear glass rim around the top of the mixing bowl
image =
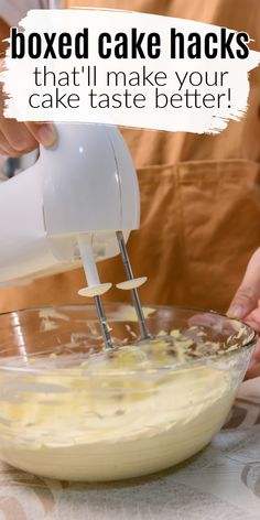
<svg viewBox="0 0 260 520">
<path fill-rule="evenodd" d="M 129 303 L 126 303 L 126 302 L 106 302 L 106 310 L 109 308 L 109 306 L 121 306 L 121 307 L 133 307 L 133 305 L 129 304 Z M 77 308 L 77 307 L 93 307 L 94 310 L 96 308 L 95 307 L 95 304 L 93 303 L 66 303 L 66 304 L 53 304 L 53 305 L 42 305 L 42 306 L 36 306 L 36 307 L 23 307 L 23 308 L 18 308 L 15 311 L 4 311 L 2 313 L 0 313 L 0 319 L 1 319 L 1 316 L 7 316 L 7 315 L 11 315 L 13 313 L 34 313 L 34 312 L 40 312 L 40 311 L 44 311 L 44 310 L 65 310 L 65 308 Z M 153 304 L 144 304 L 142 305 L 143 308 L 145 307 L 149 307 L 151 308 L 152 311 L 183 311 L 183 312 L 192 312 L 192 313 L 197 313 L 197 314 L 209 314 L 209 315 L 217 315 L 219 317 L 223 317 L 223 318 L 226 318 L 230 322 L 238 322 L 240 323 L 243 327 L 246 327 L 249 333 L 251 332 L 251 335 L 249 336 L 249 339 L 248 342 L 246 342 L 245 344 L 241 344 L 239 345 L 236 349 L 234 350 L 226 350 L 226 351 L 221 351 L 220 354 L 213 354 L 210 356 L 207 356 L 207 357 L 202 357 L 202 358 L 194 358 L 194 359 L 188 359 L 186 361 L 174 361 L 172 362 L 171 365 L 160 365 L 160 366 L 155 366 L 154 368 L 148 368 L 148 367 L 140 367 L 140 368 L 131 368 L 131 369 L 106 369 L 106 377 L 109 377 L 109 376 L 115 376 L 115 373 L 119 373 L 119 375 L 134 375 L 134 373 L 144 373 L 144 372 L 149 372 L 149 373 L 154 373 L 154 372 L 160 372 L 160 371 L 163 371 L 163 370 L 184 370 L 184 369 L 189 369 L 189 368 L 193 368 L 193 367 L 199 367 L 199 366 L 205 366 L 207 365 L 207 361 L 215 361 L 215 360 L 223 360 L 223 359 L 227 359 L 227 358 L 230 358 L 230 357 L 234 357 L 237 355 L 238 351 L 241 351 L 243 349 L 250 349 L 252 347 L 256 346 L 256 343 L 257 343 L 257 339 L 258 339 L 258 333 L 250 326 L 248 325 L 246 322 L 243 322 L 242 319 L 240 318 L 236 318 L 235 316 L 228 316 L 227 314 L 224 314 L 224 313 L 220 313 L 220 312 L 217 312 L 217 311 L 213 311 L 213 310 L 205 310 L 205 308 L 201 308 L 201 307 L 189 307 L 189 306 L 183 306 L 183 305 L 153 305 Z M 108 314 L 108 313 L 107 313 Z M 152 317 L 152 316 L 151 316 Z M 109 316 L 108 316 L 108 319 L 109 319 Z M 43 351 L 39 353 L 39 354 L 43 354 Z M 35 354 L 32 354 L 31 357 L 33 357 Z M 10 356 L 12 358 L 20 358 L 20 356 Z M 1 359 L 1 351 L 0 351 L 0 359 Z M 84 368 L 80 368 L 80 366 L 78 367 L 80 369 L 80 373 L 83 376 L 87 376 L 87 373 L 90 371 L 88 369 L 84 369 Z M 36 367 L 33 367 L 33 366 L 25 366 L 25 367 L 10 367 L 10 366 L 2 366 L 1 365 L 1 361 L 0 361 L 0 370 L 1 371 L 7 371 L 7 372 L 24 372 L 24 373 L 34 373 L 34 375 L 46 375 L 47 372 L 50 372 L 50 367 L 47 368 L 36 368 Z M 54 375 L 58 375 L 59 377 L 61 376 L 68 376 L 68 373 L 72 373 L 72 370 L 71 368 L 53 368 L 51 370 L 51 373 L 52 376 Z M 75 373 L 74 377 L 77 377 L 78 373 Z M 99 377 L 99 375 L 98 375 Z M 101 373 L 100 371 L 100 377 L 104 377 L 104 373 Z"/>
</svg>

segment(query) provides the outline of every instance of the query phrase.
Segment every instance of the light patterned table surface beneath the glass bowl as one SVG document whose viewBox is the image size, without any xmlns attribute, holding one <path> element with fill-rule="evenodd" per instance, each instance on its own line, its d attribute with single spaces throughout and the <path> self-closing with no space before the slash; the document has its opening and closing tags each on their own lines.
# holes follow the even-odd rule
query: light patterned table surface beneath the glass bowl
<svg viewBox="0 0 260 520">
<path fill-rule="evenodd" d="M 1 463 L 0 520 L 260 520 L 260 378 L 241 384 L 210 445 L 175 469 L 89 485 Z"/>
</svg>

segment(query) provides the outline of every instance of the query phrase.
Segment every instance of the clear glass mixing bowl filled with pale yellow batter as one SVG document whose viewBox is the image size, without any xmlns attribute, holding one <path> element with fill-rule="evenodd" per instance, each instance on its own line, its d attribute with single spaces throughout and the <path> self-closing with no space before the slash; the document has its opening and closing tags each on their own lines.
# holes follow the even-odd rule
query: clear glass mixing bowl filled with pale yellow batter
<svg viewBox="0 0 260 520">
<path fill-rule="evenodd" d="M 227 418 L 256 334 L 209 312 L 106 307 L 121 345 L 104 351 L 91 305 L 0 315 L 0 457 L 35 475 L 115 480 L 148 475 L 202 449 Z M 136 344 L 136 346 L 134 346 Z"/>
</svg>

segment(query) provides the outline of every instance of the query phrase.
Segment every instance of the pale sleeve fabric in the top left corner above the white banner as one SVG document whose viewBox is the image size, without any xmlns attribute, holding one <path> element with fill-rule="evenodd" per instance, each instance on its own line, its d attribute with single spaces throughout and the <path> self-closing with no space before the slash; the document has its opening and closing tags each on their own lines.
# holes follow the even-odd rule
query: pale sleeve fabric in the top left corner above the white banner
<svg viewBox="0 0 260 520">
<path fill-rule="evenodd" d="M 0 0 L 0 18 L 9 25 L 18 25 L 30 9 L 47 9 L 48 0 Z"/>
</svg>

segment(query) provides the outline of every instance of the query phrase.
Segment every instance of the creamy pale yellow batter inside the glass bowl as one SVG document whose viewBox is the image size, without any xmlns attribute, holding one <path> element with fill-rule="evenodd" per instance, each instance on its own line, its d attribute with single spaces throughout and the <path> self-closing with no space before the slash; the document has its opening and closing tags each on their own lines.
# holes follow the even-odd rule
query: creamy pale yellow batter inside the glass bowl
<svg viewBox="0 0 260 520">
<path fill-rule="evenodd" d="M 101 362 L 93 376 L 88 364 L 86 373 L 84 366 L 1 373 L 0 456 L 45 477 L 113 480 L 180 463 L 223 425 L 235 397 L 230 371 L 151 366 L 144 373 L 118 364 Z"/>
</svg>

